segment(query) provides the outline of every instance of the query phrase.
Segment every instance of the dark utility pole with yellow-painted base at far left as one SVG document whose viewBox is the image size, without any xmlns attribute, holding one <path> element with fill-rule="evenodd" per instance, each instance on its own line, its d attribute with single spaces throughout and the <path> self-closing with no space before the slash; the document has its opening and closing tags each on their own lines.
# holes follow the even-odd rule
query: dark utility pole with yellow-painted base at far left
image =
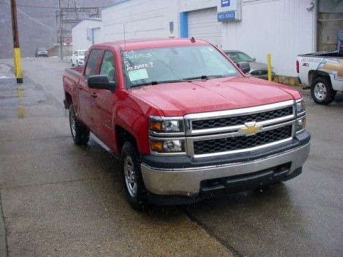
<svg viewBox="0 0 343 257">
<path fill-rule="evenodd" d="M 23 83 L 23 71 L 21 70 L 21 49 L 19 47 L 18 23 L 16 21 L 16 0 L 11 0 L 12 33 L 13 33 L 13 60 L 16 83 Z"/>
</svg>

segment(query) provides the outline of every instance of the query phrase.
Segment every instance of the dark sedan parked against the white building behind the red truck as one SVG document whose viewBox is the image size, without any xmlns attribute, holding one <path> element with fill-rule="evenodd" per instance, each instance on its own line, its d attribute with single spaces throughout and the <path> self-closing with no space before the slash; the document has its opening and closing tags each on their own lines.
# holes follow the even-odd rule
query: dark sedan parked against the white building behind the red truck
<svg viewBox="0 0 343 257">
<path fill-rule="evenodd" d="M 233 62 L 249 62 L 250 72 L 246 75 L 250 77 L 258 77 L 259 79 L 268 79 L 268 69 L 267 64 L 262 62 L 256 62 L 256 58 L 251 58 L 246 53 L 237 50 L 224 50 L 224 53 L 233 60 Z M 275 73 L 272 68 L 272 79 L 274 79 Z"/>
</svg>

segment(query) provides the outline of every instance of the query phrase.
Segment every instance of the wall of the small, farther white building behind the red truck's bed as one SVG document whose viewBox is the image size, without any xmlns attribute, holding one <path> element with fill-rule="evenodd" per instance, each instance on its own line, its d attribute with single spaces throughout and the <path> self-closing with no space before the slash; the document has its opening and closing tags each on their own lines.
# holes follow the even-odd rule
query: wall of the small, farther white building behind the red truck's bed
<svg viewBox="0 0 343 257">
<path fill-rule="evenodd" d="M 99 33 L 99 38 L 93 38 L 92 29 L 101 27 L 102 22 L 99 19 L 85 19 L 75 25 L 71 29 L 73 50 L 88 49 L 93 45 L 94 40 L 96 42 L 102 42 L 102 33 Z M 88 37 L 87 37 L 88 29 Z"/>
</svg>

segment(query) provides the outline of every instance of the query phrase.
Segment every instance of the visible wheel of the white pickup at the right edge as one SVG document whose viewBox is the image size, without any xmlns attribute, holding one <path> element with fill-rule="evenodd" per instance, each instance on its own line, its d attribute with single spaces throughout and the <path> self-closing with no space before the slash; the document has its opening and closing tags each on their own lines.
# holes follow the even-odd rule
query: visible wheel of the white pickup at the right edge
<svg viewBox="0 0 343 257">
<path fill-rule="evenodd" d="M 311 83 L 311 97 L 316 103 L 329 104 L 335 99 L 335 94 L 327 77 L 317 77 Z"/>
</svg>

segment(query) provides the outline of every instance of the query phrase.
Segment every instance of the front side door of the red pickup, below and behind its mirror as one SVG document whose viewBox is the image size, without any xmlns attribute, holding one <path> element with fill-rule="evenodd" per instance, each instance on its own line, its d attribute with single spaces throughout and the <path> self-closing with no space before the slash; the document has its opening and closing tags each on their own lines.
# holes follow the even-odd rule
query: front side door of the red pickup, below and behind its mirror
<svg viewBox="0 0 343 257">
<path fill-rule="evenodd" d="M 99 64 L 99 75 L 106 75 L 109 81 L 116 81 L 115 55 L 110 49 L 104 51 L 102 61 Z M 113 109 L 116 95 L 110 90 L 91 88 L 94 106 L 93 117 L 95 119 L 96 136 L 108 147 L 115 143 Z"/>
</svg>

